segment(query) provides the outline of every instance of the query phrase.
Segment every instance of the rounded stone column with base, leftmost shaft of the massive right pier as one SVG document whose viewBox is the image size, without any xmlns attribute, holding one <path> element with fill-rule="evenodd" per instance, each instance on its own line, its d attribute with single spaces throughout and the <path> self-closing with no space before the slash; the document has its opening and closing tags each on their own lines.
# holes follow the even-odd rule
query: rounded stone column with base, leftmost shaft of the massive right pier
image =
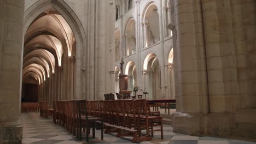
<svg viewBox="0 0 256 144">
<path fill-rule="evenodd" d="M 179 133 L 200 134 L 200 115 L 209 112 L 201 3 L 176 0 L 174 7 L 179 65 L 178 105 L 182 113 L 174 116 L 173 128 Z"/>
</svg>

